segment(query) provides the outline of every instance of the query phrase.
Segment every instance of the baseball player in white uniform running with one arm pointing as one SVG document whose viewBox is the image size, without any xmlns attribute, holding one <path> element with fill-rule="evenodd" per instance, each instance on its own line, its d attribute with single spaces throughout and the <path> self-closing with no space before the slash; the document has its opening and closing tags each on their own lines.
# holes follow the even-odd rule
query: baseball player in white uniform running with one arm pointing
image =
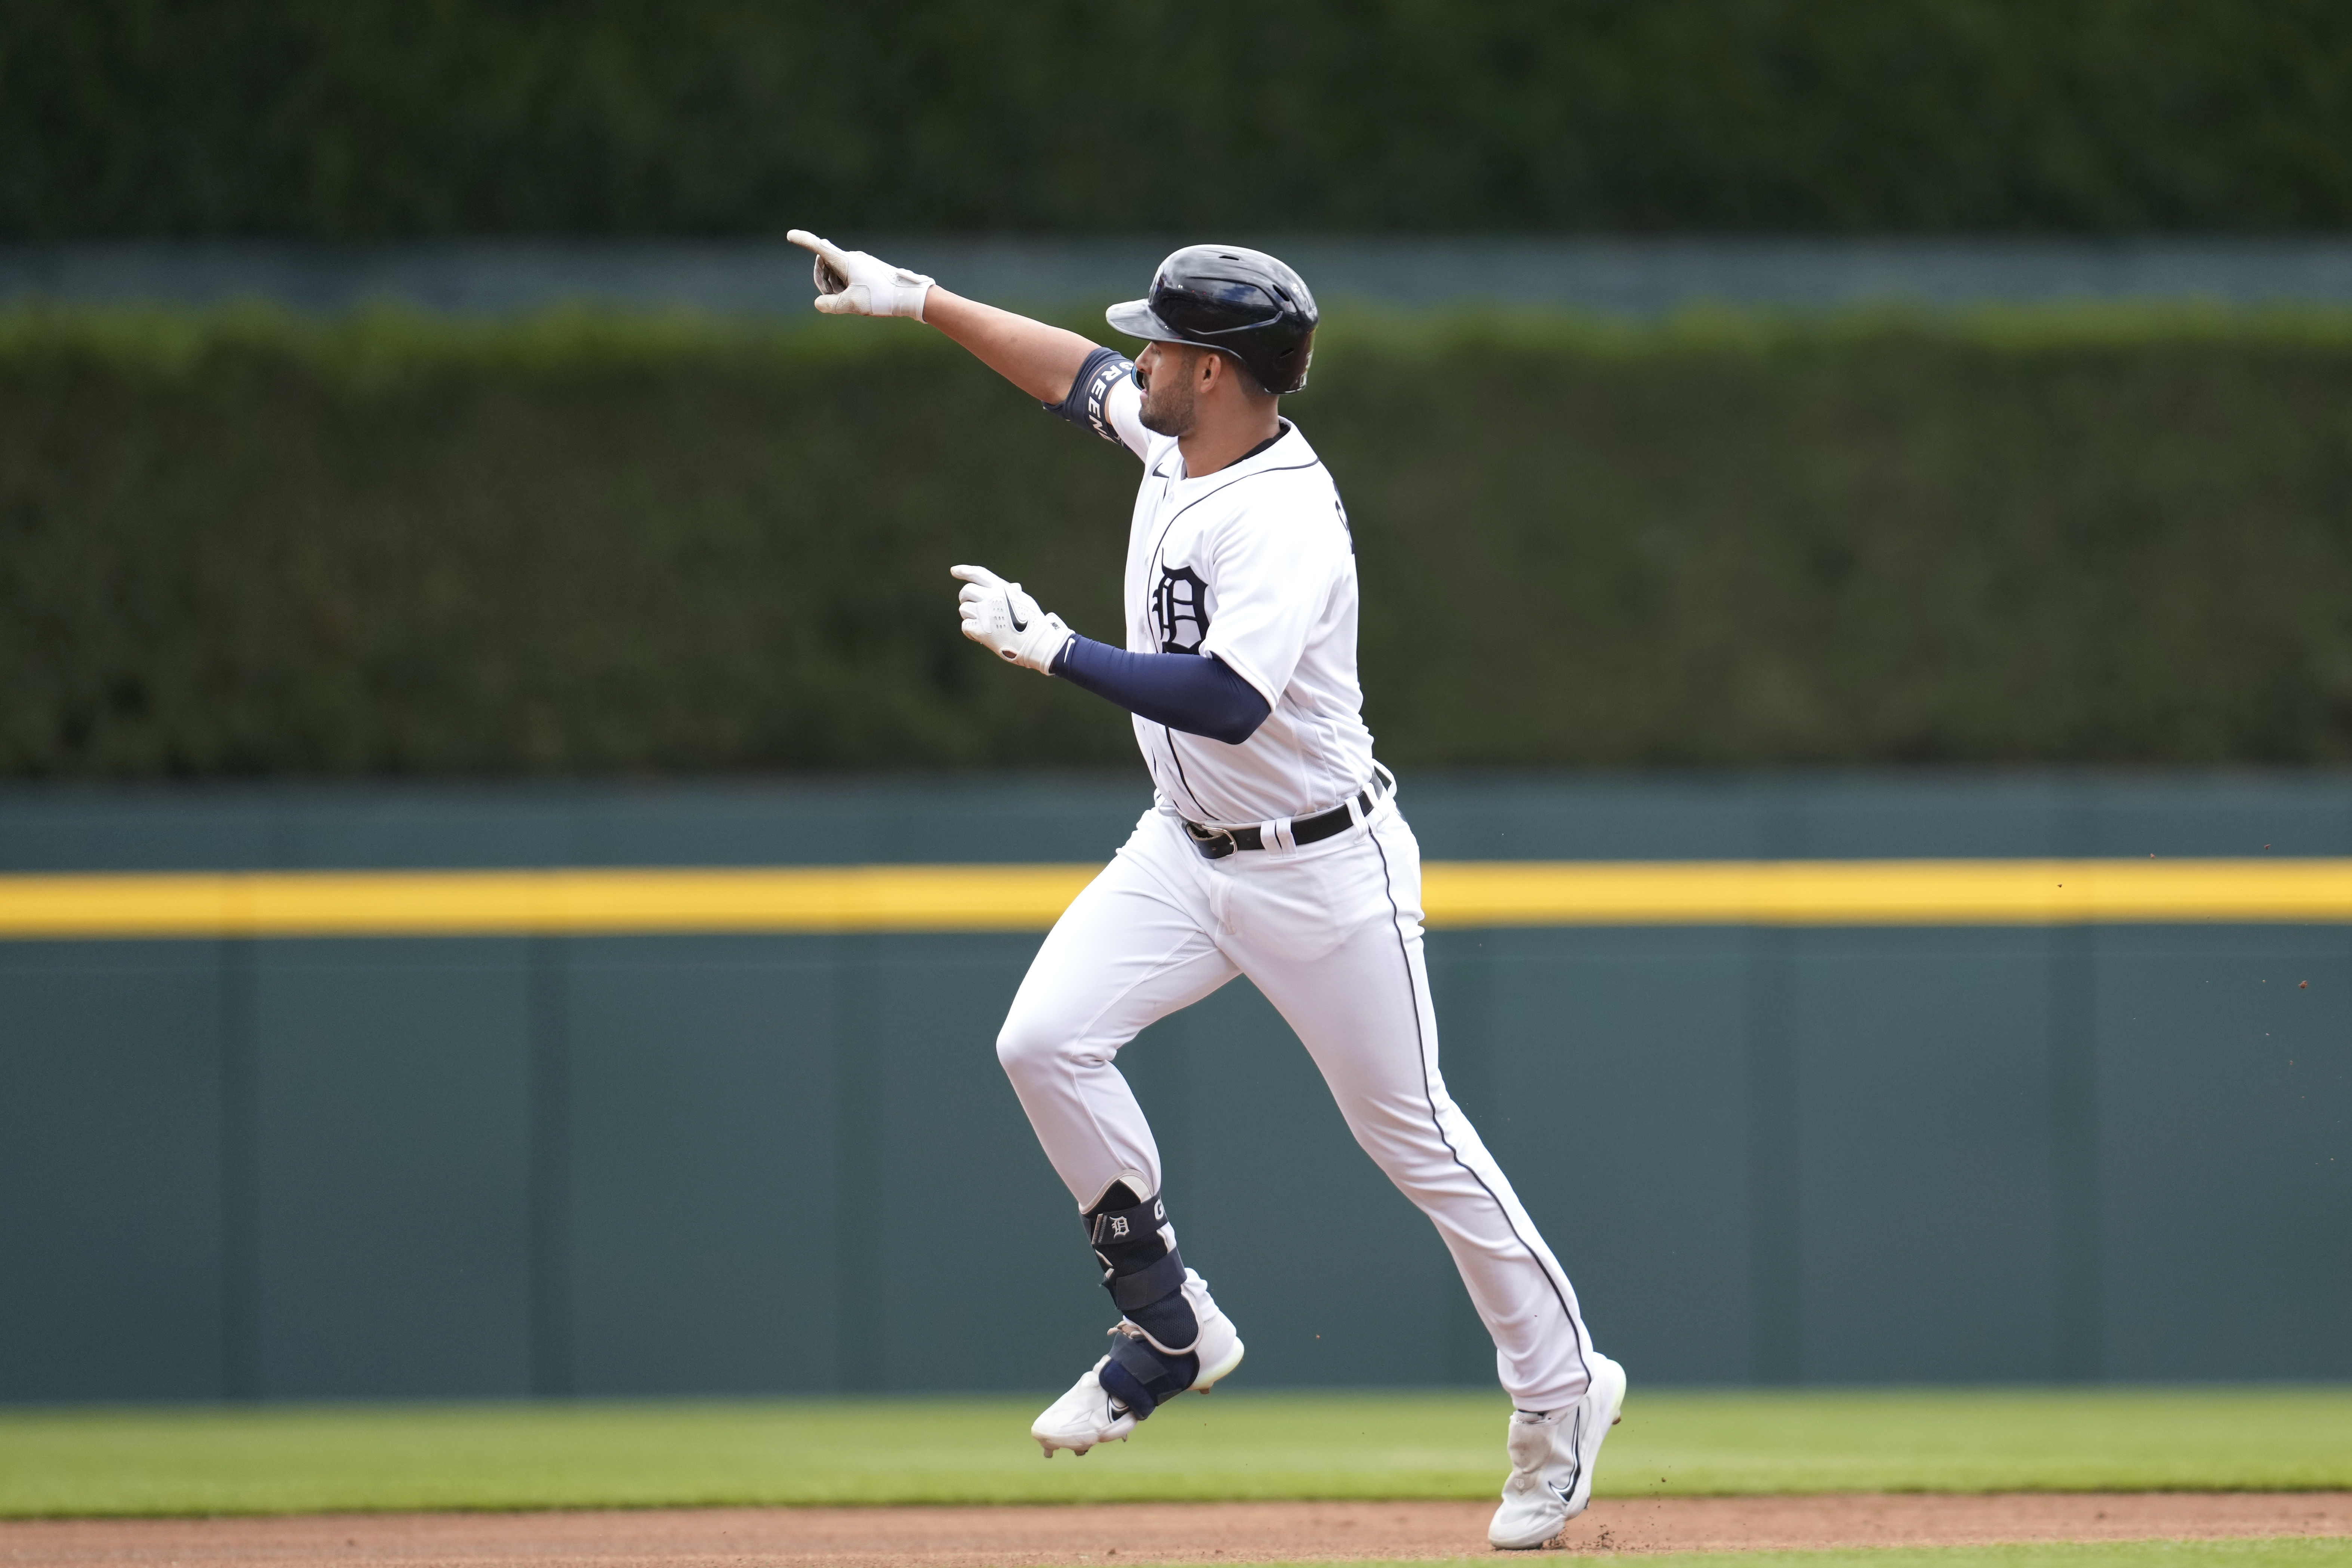
<svg viewBox="0 0 2352 1568">
<path fill-rule="evenodd" d="M 1308 378 L 1305 282 L 1261 252 L 1185 247 L 1150 296 L 1110 308 L 1143 339 L 1127 360 L 866 252 L 797 228 L 790 240 L 816 254 L 818 310 L 927 322 L 1143 463 L 1120 639 L 1082 637 L 1021 583 L 955 567 L 964 635 L 1129 710 L 1157 785 L 1044 938 L 997 1037 L 1120 1309 L 1110 1354 L 1033 1436 L 1047 1458 L 1087 1453 L 1242 1363 L 1242 1335 L 1176 1248 L 1160 1147 L 1117 1056 L 1155 1018 L 1249 976 L 1454 1253 L 1515 1403 L 1489 1540 L 1543 1544 L 1592 1497 L 1625 1371 L 1592 1349 L 1576 1291 L 1437 1072 L 1421 846 L 1359 712 L 1348 510 L 1277 402 Z M 1334 1269 L 1334 1288 L 1359 1279 Z"/>
</svg>

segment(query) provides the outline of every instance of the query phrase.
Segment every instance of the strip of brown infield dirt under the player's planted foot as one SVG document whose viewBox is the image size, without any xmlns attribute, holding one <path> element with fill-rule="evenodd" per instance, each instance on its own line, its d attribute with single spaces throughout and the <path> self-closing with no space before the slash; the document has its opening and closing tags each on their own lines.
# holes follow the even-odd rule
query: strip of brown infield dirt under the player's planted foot
<svg viewBox="0 0 2352 1568">
<path fill-rule="evenodd" d="M 1486 1554 L 1486 1502 L 1136 1502 L 1070 1507 L 642 1509 L 28 1519 L 0 1563 L 466 1563 L 595 1568 L 1011 1568 Z M 2056 1540 L 2352 1535 L 2352 1493 L 2002 1493 L 1602 1500 L 1569 1552 L 1969 1547 Z M 1496 1554 L 1512 1561 L 1519 1554 Z M 1524 1559 L 1522 1559 L 1524 1561 Z"/>
</svg>

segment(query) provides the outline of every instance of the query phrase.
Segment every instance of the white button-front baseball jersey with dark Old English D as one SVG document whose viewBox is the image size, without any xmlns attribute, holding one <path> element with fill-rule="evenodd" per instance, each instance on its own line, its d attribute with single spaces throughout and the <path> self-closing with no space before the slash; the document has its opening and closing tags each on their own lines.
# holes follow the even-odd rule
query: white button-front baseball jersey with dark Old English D
<svg viewBox="0 0 2352 1568">
<path fill-rule="evenodd" d="M 1096 430 L 1143 458 L 1127 649 L 1214 654 L 1270 710 L 1240 745 L 1138 717 L 1160 799 L 1195 823 L 1237 827 L 1310 816 L 1362 790 L 1371 731 L 1355 675 L 1355 541 L 1308 437 L 1282 421 L 1270 447 L 1190 480 L 1176 437 L 1143 428 L 1131 374 L 1101 378 L 1089 404 Z"/>
</svg>

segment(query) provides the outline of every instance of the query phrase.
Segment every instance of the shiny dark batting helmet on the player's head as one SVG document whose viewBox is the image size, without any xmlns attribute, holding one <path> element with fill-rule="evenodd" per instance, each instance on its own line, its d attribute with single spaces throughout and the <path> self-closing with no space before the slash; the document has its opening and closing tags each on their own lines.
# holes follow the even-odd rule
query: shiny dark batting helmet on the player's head
<svg viewBox="0 0 2352 1568">
<path fill-rule="evenodd" d="M 1296 393 L 1315 357 L 1315 296 L 1298 273 L 1240 244 L 1188 244 L 1152 273 L 1148 299 L 1103 313 L 1131 339 L 1232 355 L 1268 393 Z"/>
</svg>

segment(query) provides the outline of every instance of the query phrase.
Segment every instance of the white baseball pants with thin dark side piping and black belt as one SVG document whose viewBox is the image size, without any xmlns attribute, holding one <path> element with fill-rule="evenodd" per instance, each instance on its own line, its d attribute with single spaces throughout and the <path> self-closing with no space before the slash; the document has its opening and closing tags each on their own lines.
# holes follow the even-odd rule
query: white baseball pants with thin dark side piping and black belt
<svg viewBox="0 0 2352 1568">
<path fill-rule="evenodd" d="M 1120 1046 L 1235 976 L 1298 1032 L 1348 1131 L 1437 1225 L 1512 1403 L 1557 1410 L 1583 1394 L 1592 1340 L 1576 1291 L 1437 1072 L 1421 846 L 1392 799 L 1322 844 L 1223 860 L 1148 811 L 1054 924 L 997 1058 L 1080 1211 L 1115 1180 L 1160 1192 Z"/>
</svg>

